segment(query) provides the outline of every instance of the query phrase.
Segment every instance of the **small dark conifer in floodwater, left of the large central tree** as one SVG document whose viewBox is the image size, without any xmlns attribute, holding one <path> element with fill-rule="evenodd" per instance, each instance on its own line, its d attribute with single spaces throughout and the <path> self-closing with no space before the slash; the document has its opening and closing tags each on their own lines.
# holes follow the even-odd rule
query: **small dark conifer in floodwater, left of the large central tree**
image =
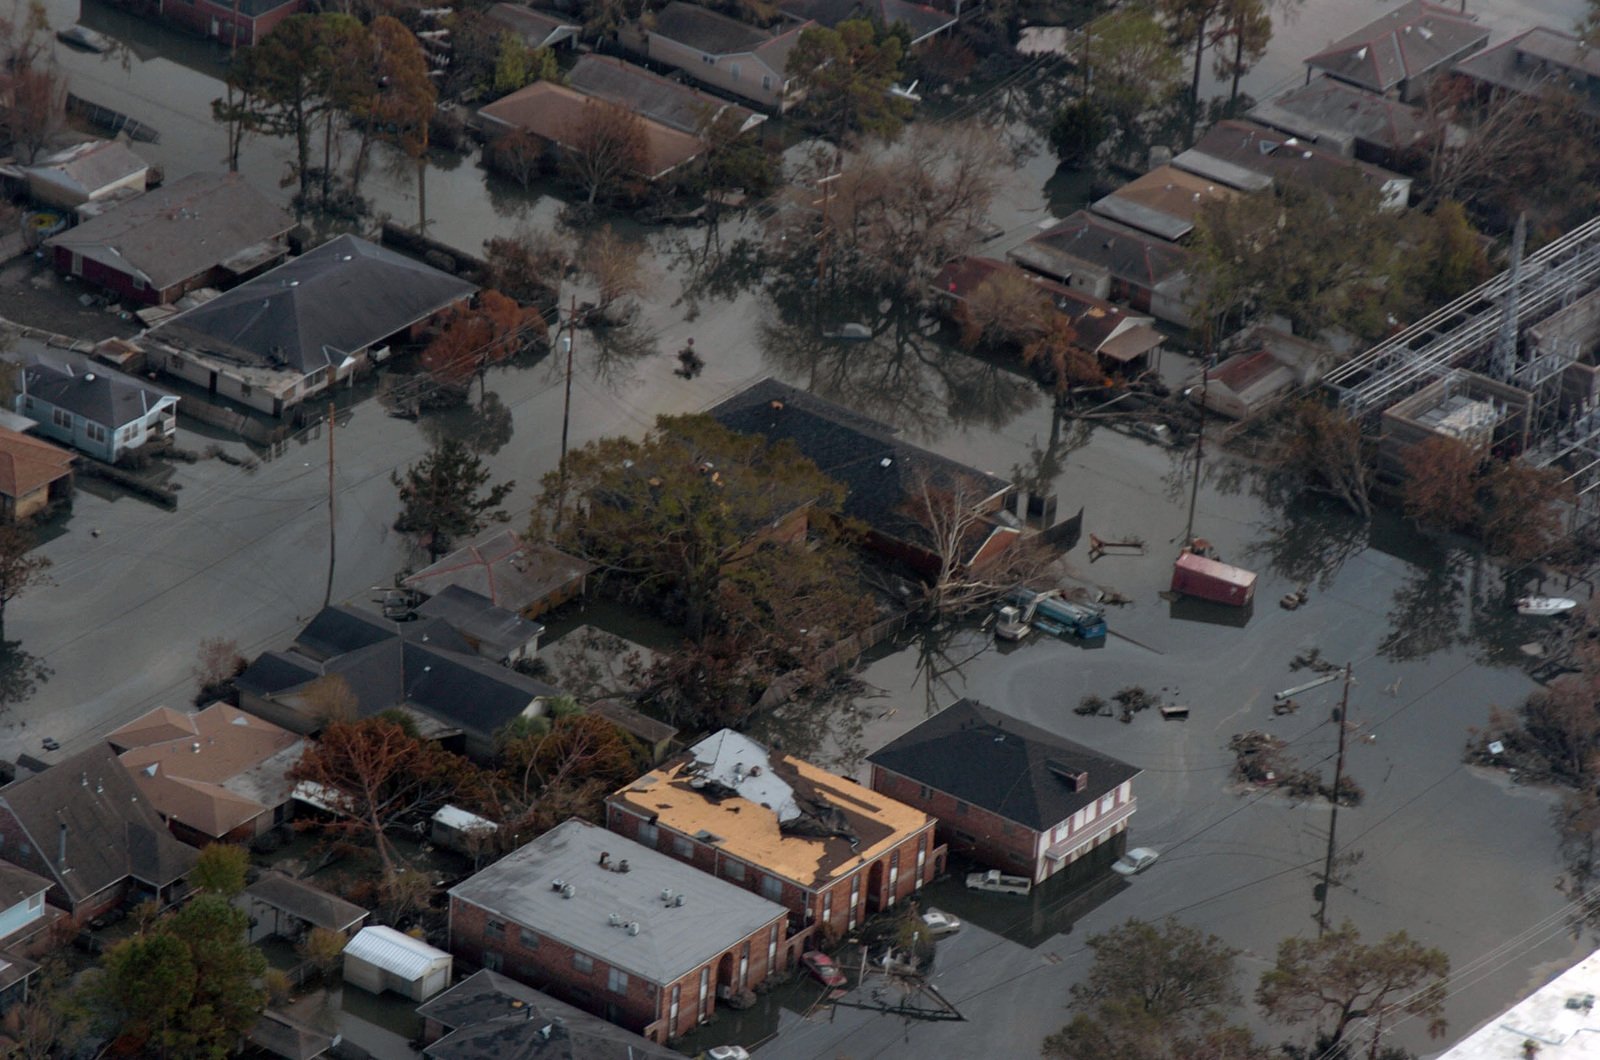
<svg viewBox="0 0 1600 1060">
<path fill-rule="evenodd" d="M 490 485 L 483 460 L 461 439 L 446 437 L 405 474 L 390 476 L 400 490 L 395 528 L 418 535 L 438 559 L 454 538 L 470 536 L 502 514 L 494 509 L 510 495 L 512 482 Z"/>
</svg>

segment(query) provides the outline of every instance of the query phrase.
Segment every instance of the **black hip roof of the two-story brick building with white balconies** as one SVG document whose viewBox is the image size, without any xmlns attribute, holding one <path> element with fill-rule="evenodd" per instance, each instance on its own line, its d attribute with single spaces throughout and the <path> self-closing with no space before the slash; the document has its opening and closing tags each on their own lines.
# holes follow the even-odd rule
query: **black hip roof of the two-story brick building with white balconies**
<svg viewBox="0 0 1600 1060">
<path fill-rule="evenodd" d="M 867 756 L 1032 831 L 1053 828 L 1139 770 L 1082 743 L 962 700 Z M 1082 791 L 1067 780 L 1086 773 Z"/>
</svg>

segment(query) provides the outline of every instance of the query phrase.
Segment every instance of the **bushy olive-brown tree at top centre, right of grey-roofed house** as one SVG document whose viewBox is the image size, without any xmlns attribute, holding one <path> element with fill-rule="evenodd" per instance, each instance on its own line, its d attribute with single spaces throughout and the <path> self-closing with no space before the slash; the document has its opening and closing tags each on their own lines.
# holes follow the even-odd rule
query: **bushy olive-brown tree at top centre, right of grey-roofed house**
<svg viewBox="0 0 1600 1060">
<path fill-rule="evenodd" d="M 866 19 L 802 30 L 787 64 L 805 93 L 798 115 L 835 143 L 858 133 L 893 139 L 910 117 L 910 102 L 890 94 L 902 58 L 899 35 Z"/>
</svg>

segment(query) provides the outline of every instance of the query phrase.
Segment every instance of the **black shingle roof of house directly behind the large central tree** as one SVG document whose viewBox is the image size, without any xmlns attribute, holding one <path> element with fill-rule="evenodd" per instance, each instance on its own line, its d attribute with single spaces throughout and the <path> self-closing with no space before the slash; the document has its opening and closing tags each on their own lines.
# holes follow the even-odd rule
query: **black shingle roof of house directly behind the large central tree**
<svg viewBox="0 0 1600 1060">
<path fill-rule="evenodd" d="M 1005 479 L 894 437 L 883 423 L 771 378 L 725 399 L 709 415 L 736 434 L 794 442 L 822 474 L 843 484 L 845 517 L 896 541 L 928 543 L 928 528 L 912 511 L 923 484 L 960 492 L 973 508 L 1011 488 Z"/>
</svg>

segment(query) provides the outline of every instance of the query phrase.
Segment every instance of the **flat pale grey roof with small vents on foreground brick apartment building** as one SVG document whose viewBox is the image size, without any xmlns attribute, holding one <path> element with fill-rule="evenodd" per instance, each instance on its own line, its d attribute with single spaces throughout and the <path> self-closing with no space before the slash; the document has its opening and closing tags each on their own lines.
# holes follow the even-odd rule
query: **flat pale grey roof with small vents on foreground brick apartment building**
<svg viewBox="0 0 1600 1060">
<path fill-rule="evenodd" d="M 600 866 L 627 861 L 629 871 Z M 573 887 L 563 898 L 554 881 Z M 683 895 L 670 905 L 662 892 Z M 547 831 L 450 890 L 491 914 L 560 940 L 630 975 L 670 983 L 763 925 L 781 905 L 578 818 Z M 613 927 L 611 914 L 622 925 Z M 638 924 L 627 934 L 626 924 Z"/>
</svg>

